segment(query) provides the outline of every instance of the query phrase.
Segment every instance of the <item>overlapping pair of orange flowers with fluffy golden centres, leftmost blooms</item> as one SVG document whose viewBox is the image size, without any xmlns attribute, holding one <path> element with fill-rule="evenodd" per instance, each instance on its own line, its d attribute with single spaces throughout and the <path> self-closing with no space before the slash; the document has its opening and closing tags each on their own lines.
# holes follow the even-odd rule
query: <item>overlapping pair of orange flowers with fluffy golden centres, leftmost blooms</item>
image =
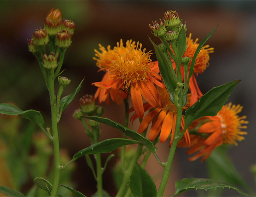
<svg viewBox="0 0 256 197">
<path fill-rule="evenodd" d="M 155 108 L 162 105 L 154 86 L 154 84 L 164 86 L 158 81 L 161 80 L 158 75 L 159 69 L 156 64 L 152 63 L 151 53 L 146 53 L 145 48 L 142 50 L 142 44 L 137 42 L 135 46 L 134 42 L 128 40 L 126 47 L 123 44 L 118 44 L 113 51 L 110 50 L 110 47 L 108 47 L 108 51 L 104 48 L 100 50 L 102 53 L 96 51 L 96 56 L 99 57 L 97 66 L 108 72 L 101 82 L 93 83 L 100 88 L 95 95 L 99 96 L 100 101 L 107 99 L 106 95 L 109 92 L 114 101 L 118 100 L 118 95 L 121 95 L 120 91 L 127 92 L 130 89 L 132 105 L 140 118 L 144 117 L 142 97 Z"/>
</svg>

